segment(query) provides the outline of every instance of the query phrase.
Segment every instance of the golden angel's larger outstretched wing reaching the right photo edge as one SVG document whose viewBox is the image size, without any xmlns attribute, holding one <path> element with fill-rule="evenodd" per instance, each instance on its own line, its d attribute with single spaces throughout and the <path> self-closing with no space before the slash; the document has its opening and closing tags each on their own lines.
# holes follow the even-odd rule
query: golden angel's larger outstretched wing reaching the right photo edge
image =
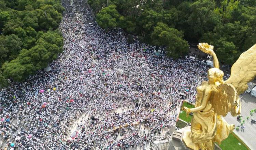
<svg viewBox="0 0 256 150">
<path fill-rule="evenodd" d="M 231 67 L 230 77 L 225 83 L 233 85 L 237 90 L 237 94 L 240 95 L 247 90 L 247 83 L 252 81 L 255 76 L 256 44 L 240 55 Z"/>
</svg>

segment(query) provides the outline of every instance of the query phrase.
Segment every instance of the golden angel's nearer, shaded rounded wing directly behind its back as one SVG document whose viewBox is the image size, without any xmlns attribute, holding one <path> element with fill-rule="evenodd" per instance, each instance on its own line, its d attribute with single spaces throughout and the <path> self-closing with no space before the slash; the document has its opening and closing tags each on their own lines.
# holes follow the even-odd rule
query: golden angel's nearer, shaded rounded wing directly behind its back
<svg viewBox="0 0 256 150">
<path fill-rule="evenodd" d="M 226 116 L 236 101 L 237 91 L 230 84 L 221 84 L 213 90 L 210 103 L 217 115 Z"/>
</svg>

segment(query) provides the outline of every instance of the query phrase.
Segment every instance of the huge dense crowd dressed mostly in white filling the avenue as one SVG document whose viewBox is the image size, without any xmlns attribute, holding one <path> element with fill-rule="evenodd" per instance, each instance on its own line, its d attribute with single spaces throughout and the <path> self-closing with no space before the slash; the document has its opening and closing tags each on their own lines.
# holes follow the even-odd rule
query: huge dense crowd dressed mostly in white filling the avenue
<svg viewBox="0 0 256 150">
<path fill-rule="evenodd" d="M 128 44 L 125 34 L 105 32 L 94 20 L 88 7 L 66 14 L 64 50 L 52 70 L 1 90 L 1 148 L 143 148 L 175 125 L 183 99 L 195 102 L 207 66 L 156 56 L 157 47 L 136 37 Z M 70 139 L 75 123 L 79 133 Z"/>
</svg>

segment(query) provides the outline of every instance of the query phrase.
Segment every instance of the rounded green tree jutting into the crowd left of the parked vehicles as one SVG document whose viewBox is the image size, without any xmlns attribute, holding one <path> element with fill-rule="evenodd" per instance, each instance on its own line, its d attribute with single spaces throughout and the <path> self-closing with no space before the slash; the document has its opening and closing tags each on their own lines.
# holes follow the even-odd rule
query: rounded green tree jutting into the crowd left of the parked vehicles
<svg viewBox="0 0 256 150">
<path fill-rule="evenodd" d="M 157 23 L 151 39 L 157 46 L 166 46 L 167 56 L 173 59 L 186 55 L 189 49 L 188 43 L 183 40 L 183 33 L 163 23 Z"/>
</svg>

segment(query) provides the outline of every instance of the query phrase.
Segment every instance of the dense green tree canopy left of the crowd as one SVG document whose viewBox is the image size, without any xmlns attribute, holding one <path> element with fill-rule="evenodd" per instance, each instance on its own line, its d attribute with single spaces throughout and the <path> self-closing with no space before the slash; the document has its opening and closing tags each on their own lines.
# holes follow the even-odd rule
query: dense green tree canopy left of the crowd
<svg viewBox="0 0 256 150">
<path fill-rule="evenodd" d="M 1 83 L 22 81 L 57 58 L 63 11 L 60 0 L 0 0 Z"/>
</svg>

